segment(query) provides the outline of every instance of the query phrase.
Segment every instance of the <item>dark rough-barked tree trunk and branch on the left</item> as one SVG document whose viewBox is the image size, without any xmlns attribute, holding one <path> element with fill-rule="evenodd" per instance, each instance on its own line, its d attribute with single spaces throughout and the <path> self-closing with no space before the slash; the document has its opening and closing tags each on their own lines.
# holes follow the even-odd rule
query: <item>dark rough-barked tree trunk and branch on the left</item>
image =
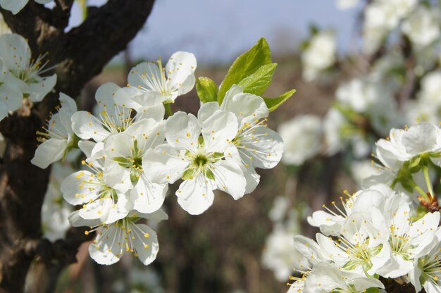
<svg viewBox="0 0 441 293">
<path fill-rule="evenodd" d="M 0 123 L 7 142 L 0 162 L 0 292 L 23 292 L 25 277 L 35 256 L 46 263 L 65 266 L 75 261 L 77 247 L 85 241 L 81 230 L 71 230 L 65 240 L 42 239 L 40 212 L 49 177 L 30 163 L 36 148 L 36 130 L 58 103 L 58 92 L 77 96 L 83 85 L 142 28 L 154 0 L 108 0 L 79 27 L 64 32 L 73 0 L 56 0 L 54 10 L 30 1 L 17 15 L 0 9 L 13 32 L 25 37 L 38 56 L 49 52 L 56 66 L 55 91 L 30 111 L 18 111 Z"/>
</svg>

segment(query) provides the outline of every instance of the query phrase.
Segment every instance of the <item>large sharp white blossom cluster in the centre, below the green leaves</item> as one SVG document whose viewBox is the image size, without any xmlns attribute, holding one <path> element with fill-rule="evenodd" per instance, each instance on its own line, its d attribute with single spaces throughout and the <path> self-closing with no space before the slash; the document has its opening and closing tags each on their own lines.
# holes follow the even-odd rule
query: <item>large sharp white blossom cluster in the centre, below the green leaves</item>
<svg viewBox="0 0 441 293">
<path fill-rule="evenodd" d="M 60 94 L 32 163 L 46 168 L 78 146 L 85 167 L 61 183 L 63 198 L 80 208 L 69 216 L 73 226 L 97 231 L 89 253 L 97 263 L 116 263 L 130 251 L 144 265 L 159 250 L 156 232 L 144 222 L 168 218 L 161 209 L 168 184 L 180 180 L 178 203 L 190 214 L 213 204 L 213 190 L 234 199 L 259 183 L 255 168 L 273 168 L 282 156 L 280 136 L 266 126 L 268 107 L 261 96 L 232 85 L 223 102 L 206 102 L 197 116 L 165 108 L 189 92 L 197 67 L 193 54 L 176 52 L 161 61 L 130 70 L 127 87 L 113 83 L 96 92 L 97 113 L 77 111 Z"/>
</svg>

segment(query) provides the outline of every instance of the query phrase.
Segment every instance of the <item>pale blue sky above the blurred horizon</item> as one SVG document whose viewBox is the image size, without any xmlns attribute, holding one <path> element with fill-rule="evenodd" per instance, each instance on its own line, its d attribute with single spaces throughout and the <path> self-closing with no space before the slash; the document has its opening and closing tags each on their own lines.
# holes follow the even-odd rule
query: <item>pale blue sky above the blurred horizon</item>
<svg viewBox="0 0 441 293">
<path fill-rule="evenodd" d="M 77 11 L 73 18 L 73 24 L 79 21 Z M 335 28 L 339 46 L 346 47 L 354 35 L 355 18 L 356 9 L 339 11 L 333 0 L 156 0 L 130 50 L 133 57 L 143 59 L 191 51 L 199 63 L 223 63 L 260 37 L 266 37 L 273 51 L 295 50 L 310 23 Z"/>
</svg>

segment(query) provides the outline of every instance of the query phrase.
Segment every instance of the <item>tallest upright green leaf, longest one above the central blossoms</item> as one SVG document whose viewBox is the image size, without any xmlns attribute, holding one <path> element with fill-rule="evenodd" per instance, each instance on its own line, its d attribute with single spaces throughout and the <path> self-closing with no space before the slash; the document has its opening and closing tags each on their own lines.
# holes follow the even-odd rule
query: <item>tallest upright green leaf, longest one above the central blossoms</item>
<svg viewBox="0 0 441 293">
<path fill-rule="evenodd" d="M 218 102 L 222 104 L 225 93 L 232 85 L 238 85 L 245 77 L 255 73 L 261 66 L 271 63 L 271 51 L 266 39 L 261 38 L 251 49 L 237 57 L 232 63 L 218 92 Z"/>
</svg>

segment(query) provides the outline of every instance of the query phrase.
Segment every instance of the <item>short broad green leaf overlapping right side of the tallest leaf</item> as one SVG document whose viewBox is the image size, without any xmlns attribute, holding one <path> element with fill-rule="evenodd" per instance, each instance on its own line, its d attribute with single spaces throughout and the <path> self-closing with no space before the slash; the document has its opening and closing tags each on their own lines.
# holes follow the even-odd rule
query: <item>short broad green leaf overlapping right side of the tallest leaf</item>
<svg viewBox="0 0 441 293">
<path fill-rule="evenodd" d="M 255 73 L 241 80 L 239 85 L 244 88 L 244 92 L 261 96 L 261 94 L 263 94 L 270 86 L 276 67 L 276 63 L 261 66 Z"/>
</svg>

